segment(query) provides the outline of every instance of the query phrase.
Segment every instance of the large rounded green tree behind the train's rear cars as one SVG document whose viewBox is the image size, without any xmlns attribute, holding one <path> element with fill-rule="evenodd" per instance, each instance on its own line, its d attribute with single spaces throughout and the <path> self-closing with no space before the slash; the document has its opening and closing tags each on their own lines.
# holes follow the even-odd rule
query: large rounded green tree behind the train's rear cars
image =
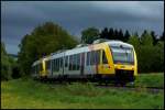
<svg viewBox="0 0 165 110">
<path fill-rule="evenodd" d="M 58 50 L 72 48 L 77 45 L 74 36 L 69 35 L 63 28 L 53 22 L 46 22 L 26 34 L 19 47 L 19 67 L 23 75 L 30 75 L 31 65 L 34 61 L 50 55 Z"/>
</svg>

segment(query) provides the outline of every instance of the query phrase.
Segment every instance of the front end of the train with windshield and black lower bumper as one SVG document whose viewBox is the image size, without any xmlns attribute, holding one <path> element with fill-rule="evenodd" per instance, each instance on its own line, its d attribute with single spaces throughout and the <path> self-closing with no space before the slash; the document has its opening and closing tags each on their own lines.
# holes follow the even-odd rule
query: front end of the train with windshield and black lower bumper
<svg viewBox="0 0 165 110">
<path fill-rule="evenodd" d="M 128 43 L 110 44 L 116 78 L 120 84 L 134 81 L 138 76 L 138 61 L 134 47 Z"/>
</svg>

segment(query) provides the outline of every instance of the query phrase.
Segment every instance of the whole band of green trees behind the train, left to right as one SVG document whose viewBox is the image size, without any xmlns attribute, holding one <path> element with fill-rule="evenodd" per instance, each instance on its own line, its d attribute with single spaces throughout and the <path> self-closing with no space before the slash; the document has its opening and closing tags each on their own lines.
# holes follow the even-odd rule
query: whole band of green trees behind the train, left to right
<svg viewBox="0 0 165 110">
<path fill-rule="evenodd" d="M 164 70 L 164 33 L 156 37 L 154 32 L 147 31 L 138 35 L 112 28 L 105 28 L 101 32 L 96 28 L 88 28 L 81 32 L 81 42 L 78 42 L 76 36 L 58 24 L 46 22 L 23 36 L 19 44 L 18 61 L 13 61 L 7 54 L 4 44 L 1 43 L 1 79 L 29 76 L 34 61 L 58 50 L 73 48 L 78 43 L 91 44 L 97 38 L 120 40 L 133 44 L 140 73 Z"/>
</svg>

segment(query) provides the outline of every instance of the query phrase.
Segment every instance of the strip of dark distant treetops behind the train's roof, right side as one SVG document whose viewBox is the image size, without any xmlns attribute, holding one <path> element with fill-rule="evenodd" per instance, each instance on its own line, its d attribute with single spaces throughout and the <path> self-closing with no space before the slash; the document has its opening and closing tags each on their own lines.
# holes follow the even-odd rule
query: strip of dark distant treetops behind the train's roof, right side
<svg viewBox="0 0 165 110">
<path fill-rule="evenodd" d="M 145 34 L 147 31 L 144 30 L 143 34 Z M 81 43 L 91 44 L 97 38 L 108 38 L 108 40 L 119 40 L 123 42 L 128 42 L 130 36 L 136 35 L 139 37 L 143 36 L 139 35 L 138 32 L 134 34 L 130 34 L 130 32 L 122 31 L 121 29 L 112 29 L 112 28 L 105 28 L 101 30 L 101 32 L 96 28 L 88 28 L 84 31 L 81 31 Z M 153 38 L 153 45 L 155 45 L 158 41 L 165 41 L 164 32 L 162 35 L 156 35 L 154 31 L 150 32 L 152 38 Z"/>
</svg>

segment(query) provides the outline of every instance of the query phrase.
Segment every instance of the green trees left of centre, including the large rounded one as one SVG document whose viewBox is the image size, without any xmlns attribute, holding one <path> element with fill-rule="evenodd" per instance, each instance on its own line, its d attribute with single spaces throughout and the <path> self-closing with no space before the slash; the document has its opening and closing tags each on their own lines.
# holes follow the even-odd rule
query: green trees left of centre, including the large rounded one
<svg viewBox="0 0 165 110">
<path fill-rule="evenodd" d="M 32 33 L 23 36 L 19 44 L 18 61 L 13 61 L 2 44 L 1 46 L 1 79 L 8 80 L 31 74 L 33 62 L 58 50 L 69 50 L 78 44 L 75 36 L 68 34 L 62 26 L 46 22 L 35 28 Z M 11 61 L 14 63 L 12 64 Z"/>
</svg>

